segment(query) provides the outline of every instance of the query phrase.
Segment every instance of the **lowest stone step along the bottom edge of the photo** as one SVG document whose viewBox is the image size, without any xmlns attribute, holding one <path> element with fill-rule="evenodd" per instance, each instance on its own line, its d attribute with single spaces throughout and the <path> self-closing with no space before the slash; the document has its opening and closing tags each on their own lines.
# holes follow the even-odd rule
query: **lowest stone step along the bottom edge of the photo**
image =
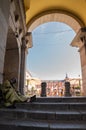
<svg viewBox="0 0 86 130">
<path fill-rule="evenodd" d="M 82 121 L 0 120 L 0 130 L 86 130 Z"/>
</svg>

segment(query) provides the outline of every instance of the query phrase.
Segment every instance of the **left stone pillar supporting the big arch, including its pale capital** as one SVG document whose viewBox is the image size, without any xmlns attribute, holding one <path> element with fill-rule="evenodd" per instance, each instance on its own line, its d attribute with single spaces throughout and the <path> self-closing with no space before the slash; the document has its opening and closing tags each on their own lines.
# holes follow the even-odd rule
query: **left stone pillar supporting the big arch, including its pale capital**
<svg viewBox="0 0 86 130">
<path fill-rule="evenodd" d="M 26 72 L 26 56 L 27 49 L 32 47 L 32 33 L 27 32 L 25 37 L 22 38 L 21 46 L 21 66 L 20 66 L 20 92 L 24 94 L 24 85 L 25 85 L 25 72 Z"/>
</svg>

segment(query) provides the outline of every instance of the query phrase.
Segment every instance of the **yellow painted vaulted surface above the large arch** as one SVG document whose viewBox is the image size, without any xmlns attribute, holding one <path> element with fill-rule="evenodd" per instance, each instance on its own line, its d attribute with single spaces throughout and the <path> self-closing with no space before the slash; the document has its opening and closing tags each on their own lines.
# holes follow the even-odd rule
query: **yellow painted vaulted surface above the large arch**
<svg viewBox="0 0 86 130">
<path fill-rule="evenodd" d="M 47 10 L 65 10 L 76 15 L 86 25 L 86 0 L 24 0 L 26 24 Z"/>
</svg>

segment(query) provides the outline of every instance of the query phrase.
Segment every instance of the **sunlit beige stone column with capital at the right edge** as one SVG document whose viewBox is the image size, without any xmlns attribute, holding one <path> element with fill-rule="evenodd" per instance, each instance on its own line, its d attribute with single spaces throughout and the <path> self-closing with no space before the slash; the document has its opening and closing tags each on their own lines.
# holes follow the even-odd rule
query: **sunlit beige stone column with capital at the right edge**
<svg viewBox="0 0 86 130">
<path fill-rule="evenodd" d="M 82 70 L 81 93 L 86 96 L 86 27 L 80 28 L 71 45 L 79 48 Z"/>
</svg>

